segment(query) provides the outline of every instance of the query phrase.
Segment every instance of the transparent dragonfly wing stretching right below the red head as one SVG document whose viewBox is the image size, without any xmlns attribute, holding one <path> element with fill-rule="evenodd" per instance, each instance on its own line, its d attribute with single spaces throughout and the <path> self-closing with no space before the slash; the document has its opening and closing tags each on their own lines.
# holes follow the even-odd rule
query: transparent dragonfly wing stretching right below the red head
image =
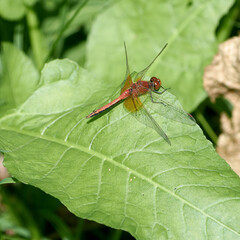
<svg viewBox="0 0 240 240">
<path fill-rule="evenodd" d="M 188 125 L 195 125 L 195 119 L 187 112 L 182 109 L 180 103 L 178 103 L 176 97 L 169 92 L 164 92 L 162 94 L 157 94 L 154 92 L 149 92 L 148 96 L 144 101 L 149 108 L 154 112 L 159 113 L 165 118 L 181 122 Z M 169 99 L 168 102 L 165 99 Z"/>
</svg>

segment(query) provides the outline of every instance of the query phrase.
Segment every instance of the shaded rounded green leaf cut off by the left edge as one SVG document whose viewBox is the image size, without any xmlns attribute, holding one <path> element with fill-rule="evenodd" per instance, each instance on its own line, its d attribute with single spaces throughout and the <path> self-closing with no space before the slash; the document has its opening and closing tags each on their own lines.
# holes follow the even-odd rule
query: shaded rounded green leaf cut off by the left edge
<svg viewBox="0 0 240 240">
<path fill-rule="evenodd" d="M 34 91 L 39 74 L 31 60 L 11 43 L 2 43 L 3 76 L 0 82 L 0 116 L 20 106 Z"/>
</svg>

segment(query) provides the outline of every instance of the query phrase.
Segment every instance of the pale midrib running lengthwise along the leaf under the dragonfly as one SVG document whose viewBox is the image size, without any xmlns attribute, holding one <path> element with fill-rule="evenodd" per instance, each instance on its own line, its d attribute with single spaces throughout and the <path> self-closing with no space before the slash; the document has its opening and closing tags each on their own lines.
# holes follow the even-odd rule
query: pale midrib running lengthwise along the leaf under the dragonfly
<svg viewBox="0 0 240 240">
<path fill-rule="evenodd" d="M 142 180 L 145 180 L 146 182 L 150 183 L 151 185 L 153 185 L 155 188 L 159 188 L 161 189 L 162 191 L 170 194 L 171 196 L 175 197 L 176 199 L 178 199 L 179 201 L 183 202 L 184 204 L 188 205 L 189 207 L 195 209 L 196 211 L 200 212 L 202 215 L 204 215 L 205 217 L 213 220 L 214 222 L 216 222 L 217 224 L 221 225 L 222 227 L 228 229 L 229 231 L 233 232 L 234 234 L 240 236 L 240 233 L 236 232 L 235 230 L 231 229 L 230 227 L 226 226 L 225 224 L 223 224 L 222 222 L 220 222 L 219 220 L 215 219 L 214 217 L 212 217 L 211 215 L 207 214 L 206 212 L 204 212 L 203 210 L 201 210 L 200 208 L 196 207 L 195 205 L 193 205 L 192 203 L 190 203 L 189 201 L 185 200 L 184 198 L 176 195 L 174 192 L 168 190 L 166 187 L 160 185 L 159 183 L 153 181 L 152 179 L 149 179 L 147 178 L 146 176 L 144 176 L 143 174 L 133 170 L 133 169 L 130 169 L 129 167 L 125 166 L 125 165 L 122 165 L 120 163 L 118 163 L 117 161 L 115 161 L 114 159 L 104 155 L 104 154 L 101 154 L 97 151 L 94 151 L 93 149 L 89 149 L 89 148 L 86 148 L 84 146 L 81 146 L 81 145 L 76 145 L 74 143 L 69 143 L 69 142 L 65 142 L 65 141 L 62 141 L 62 140 L 59 140 L 57 138 L 52 138 L 50 136 L 47 136 L 47 135 L 37 135 L 37 134 L 33 134 L 32 132 L 28 132 L 28 131 L 25 131 L 25 130 L 21 130 L 19 131 L 18 129 L 15 129 L 15 128 L 11 128 L 11 127 L 5 127 L 4 130 L 8 130 L 8 131 L 13 131 L 13 132 L 16 132 L 16 133 L 19 133 L 19 134 L 22 134 L 22 135 L 26 135 L 26 136 L 30 136 L 30 137 L 34 137 L 34 138 L 41 138 L 41 139 L 44 139 L 46 141 L 51 141 L 51 142 L 54 142 L 54 143 L 57 143 L 57 144 L 61 144 L 61 145 L 64 145 L 68 148 L 75 148 L 77 150 L 80 150 L 82 152 L 85 152 L 85 153 L 88 153 L 90 155 L 94 155 L 96 157 L 98 157 L 99 159 L 103 159 L 103 161 L 108 161 L 110 162 L 111 164 L 115 165 L 116 167 L 119 167 L 119 168 L 122 168 L 123 170 L 125 170 L 126 172 L 131 172 L 132 174 L 134 174 L 135 176 L 139 177 L 140 179 Z"/>
</svg>

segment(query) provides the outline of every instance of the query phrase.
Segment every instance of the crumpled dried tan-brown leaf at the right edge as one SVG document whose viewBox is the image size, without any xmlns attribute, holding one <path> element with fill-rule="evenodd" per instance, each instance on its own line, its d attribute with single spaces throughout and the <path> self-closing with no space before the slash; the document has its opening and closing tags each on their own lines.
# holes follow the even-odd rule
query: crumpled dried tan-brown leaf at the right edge
<svg viewBox="0 0 240 240">
<path fill-rule="evenodd" d="M 221 115 L 223 132 L 217 151 L 240 175 L 240 37 L 219 46 L 217 55 L 205 69 L 204 87 L 212 101 L 223 96 L 233 105 L 231 119 Z"/>
</svg>

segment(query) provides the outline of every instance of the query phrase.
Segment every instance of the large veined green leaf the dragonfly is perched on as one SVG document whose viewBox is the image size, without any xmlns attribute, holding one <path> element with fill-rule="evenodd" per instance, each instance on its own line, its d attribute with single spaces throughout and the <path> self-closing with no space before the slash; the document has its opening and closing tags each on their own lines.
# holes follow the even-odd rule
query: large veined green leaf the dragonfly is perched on
<svg viewBox="0 0 240 240">
<path fill-rule="evenodd" d="M 200 128 L 155 114 L 169 146 L 121 104 L 88 121 L 92 82 L 69 60 L 45 65 L 36 90 L 0 118 L 12 176 L 137 239 L 240 239 L 239 178 Z"/>
</svg>

